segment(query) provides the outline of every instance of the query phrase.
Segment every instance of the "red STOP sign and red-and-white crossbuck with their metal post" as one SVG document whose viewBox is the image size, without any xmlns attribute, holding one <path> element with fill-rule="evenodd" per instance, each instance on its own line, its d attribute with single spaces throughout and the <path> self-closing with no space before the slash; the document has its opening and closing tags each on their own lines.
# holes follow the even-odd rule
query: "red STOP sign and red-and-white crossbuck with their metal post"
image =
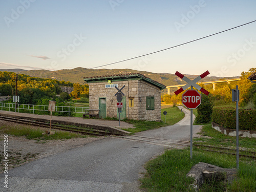
<svg viewBox="0 0 256 192">
<path fill-rule="evenodd" d="M 187 109 L 190 109 L 190 158 L 192 159 L 193 153 L 193 109 L 196 109 L 201 104 L 201 95 L 196 91 L 193 90 L 193 87 L 204 93 L 205 95 L 209 95 L 209 92 L 203 89 L 201 86 L 196 84 L 199 80 L 209 75 L 209 71 L 204 72 L 202 75 L 199 75 L 197 78 L 190 80 L 186 76 L 182 75 L 178 71 L 176 71 L 175 75 L 180 77 L 182 80 L 186 81 L 187 84 L 183 86 L 182 88 L 178 89 L 175 93 L 175 95 L 178 95 L 179 93 L 185 91 L 189 87 L 191 87 L 191 90 L 187 90 L 182 95 L 182 104 L 186 106 Z"/>
</svg>

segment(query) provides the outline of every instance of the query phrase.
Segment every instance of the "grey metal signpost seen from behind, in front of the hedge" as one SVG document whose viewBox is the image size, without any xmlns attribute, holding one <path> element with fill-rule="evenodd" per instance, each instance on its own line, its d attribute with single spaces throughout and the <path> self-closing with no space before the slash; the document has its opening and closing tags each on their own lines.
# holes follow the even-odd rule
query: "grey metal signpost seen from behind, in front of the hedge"
<svg viewBox="0 0 256 192">
<path fill-rule="evenodd" d="M 237 169 L 239 168 L 239 113 L 238 113 L 238 102 L 239 102 L 239 89 L 238 86 L 236 89 L 232 89 L 232 101 L 236 101 L 237 109 L 236 109 L 236 135 L 237 135 Z"/>
</svg>

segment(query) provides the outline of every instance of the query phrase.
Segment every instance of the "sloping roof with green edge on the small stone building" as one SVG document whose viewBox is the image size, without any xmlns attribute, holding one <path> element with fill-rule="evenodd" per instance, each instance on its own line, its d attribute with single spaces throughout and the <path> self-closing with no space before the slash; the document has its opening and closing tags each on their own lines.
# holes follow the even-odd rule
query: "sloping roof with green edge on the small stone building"
<svg viewBox="0 0 256 192">
<path fill-rule="evenodd" d="M 144 80 L 154 86 L 160 88 L 160 90 L 165 89 L 165 85 L 159 83 L 151 78 L 148 78 L 140 73 L 126 73 L 126 74 L 113 74 L 113 75 L 102 75 L 102 76 L 94 76 L 94 77 L 83 77 L 83 80 L 92 83 L 92 82 L 108 82 L 111 80 L 115 81 L 125 81 L 125 80 Z"/>
</svg>

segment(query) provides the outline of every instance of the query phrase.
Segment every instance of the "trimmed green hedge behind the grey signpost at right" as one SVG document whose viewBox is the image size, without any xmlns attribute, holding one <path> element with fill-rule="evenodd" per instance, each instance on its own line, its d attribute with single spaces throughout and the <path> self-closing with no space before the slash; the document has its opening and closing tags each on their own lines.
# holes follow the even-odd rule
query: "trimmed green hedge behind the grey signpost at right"
<svg viewBox="0 0 256 192">
<path fill-rule="evenodd" d="M 212 112 L 212 121 L 228 128 L 236 129 L 236 109 L 215 108 Z M 256 131 L 256 111 L 239 109 L 239 129 Z"/>
</svg>

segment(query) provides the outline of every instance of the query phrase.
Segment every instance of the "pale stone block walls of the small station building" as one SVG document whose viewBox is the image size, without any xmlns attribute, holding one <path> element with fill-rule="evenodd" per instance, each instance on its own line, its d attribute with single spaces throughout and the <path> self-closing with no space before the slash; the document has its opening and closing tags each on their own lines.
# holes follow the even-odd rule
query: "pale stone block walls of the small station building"
<svg viewBox="0 0 256 192">
<path fill-rule="evenodd" d="M 117 93 L 115 88 L 105 88 L 108 82 L 89 83 L 90 109 L 99 109 L 99 97 L 106 98 L 106 116 L 117 117 Z M 161 90 L 143 80 L 115 81 L 126 97 L 126 118 L 161 121 Z M 155 110 L 146 110 L 146 96 L 155 97 Z M 134 107 L 129 108 L 129 98 L 134 98 Z M 123 103 L 124 105 L 124 103 Z"/>
</svg>

